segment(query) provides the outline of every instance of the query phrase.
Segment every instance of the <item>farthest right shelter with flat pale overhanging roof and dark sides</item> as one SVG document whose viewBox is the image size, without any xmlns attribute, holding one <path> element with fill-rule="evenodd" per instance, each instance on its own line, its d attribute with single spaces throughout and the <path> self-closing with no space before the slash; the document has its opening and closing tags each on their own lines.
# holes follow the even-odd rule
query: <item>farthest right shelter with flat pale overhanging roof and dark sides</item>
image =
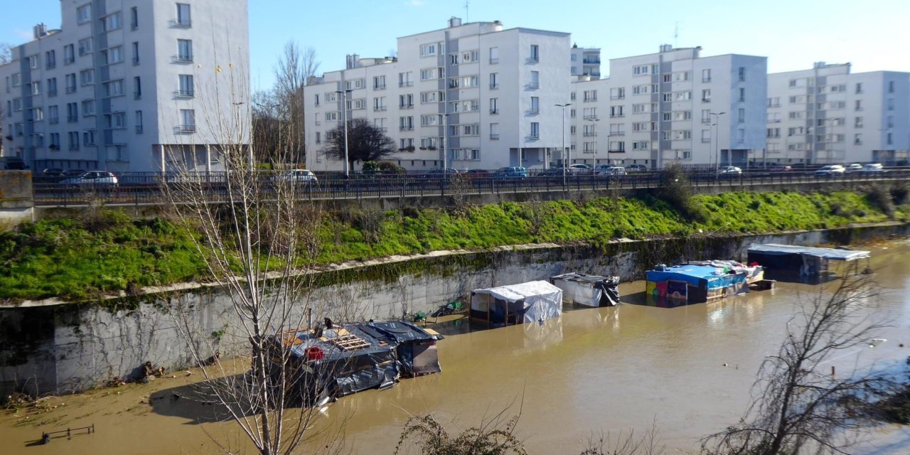
<svg viewBox="0 0 910 455">
<path fill-rule="evenodd" d="M 869 251 L 842 248 L 801 247 L 775 243 L 749 246 L 749 263 L 761 264 L 773 278 L 819 278 L 828 273 L 828 262 L 870 257 Z"/>
</svg>

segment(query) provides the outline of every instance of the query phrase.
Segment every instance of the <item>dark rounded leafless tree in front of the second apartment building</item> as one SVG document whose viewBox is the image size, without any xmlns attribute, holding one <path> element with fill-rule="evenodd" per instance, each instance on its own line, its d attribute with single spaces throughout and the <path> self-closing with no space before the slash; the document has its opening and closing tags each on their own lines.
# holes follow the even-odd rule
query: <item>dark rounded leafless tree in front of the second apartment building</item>
<svg viewBox="0 0 910 455">
<path fill-rule="evenodd" d="M 398 150 L 391 137 L 386 136 L 366 118 L 354 118 L 348 122 L 348 161 L 351 165 L 360 161 L 378 161 L 390 157 Z M 332 159 L 344 160 L 345 130 L 336 126 L 326 133 L 326 147 L 323 153 Z"/>
</svg>

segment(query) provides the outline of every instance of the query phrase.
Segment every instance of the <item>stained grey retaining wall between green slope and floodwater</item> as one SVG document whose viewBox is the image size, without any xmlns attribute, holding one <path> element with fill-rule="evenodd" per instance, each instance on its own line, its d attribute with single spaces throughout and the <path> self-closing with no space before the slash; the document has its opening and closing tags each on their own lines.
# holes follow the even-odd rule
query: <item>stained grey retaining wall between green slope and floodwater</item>
<svg viewBox="0 0 910 455">
<path fill-rule="evenodd" d="M 849 244 L 856 238 L 910 234 L 910 225 L 855 227 L 769 236 L 683 238 L 616 242 L 606 248 L 516 248 L 449 257 L 421 258 L 327 272 L 314 276 L 313 292 L 300 302 L 314 309 L 316 320 L 395 319 L 430 312 L 471 289 L 487 288 L 568 271 L 641 279 L 657 263 L 703 258 L 739 258 L 753 242 L 802 245 Z M 466 300 L 465 300 L 466 301 Z M 224 355 L 238 354 L 241 334 L 230 299 L 219 289 L 152 296 L 97 304 L 36 308 L 0 308 L 0 393 L 65 393 L 86 389 L 116 376 L 136 372 L 146 360 L 168 369 L 191 363 L 177 333 L 173 304 L 202 340 Z"/>
</svg>

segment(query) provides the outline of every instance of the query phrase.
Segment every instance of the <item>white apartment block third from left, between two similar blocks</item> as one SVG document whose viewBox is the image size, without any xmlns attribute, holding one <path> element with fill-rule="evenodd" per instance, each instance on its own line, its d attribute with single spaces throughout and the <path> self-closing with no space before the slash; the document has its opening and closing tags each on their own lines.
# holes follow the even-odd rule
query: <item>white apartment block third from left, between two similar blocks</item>
<svg viewBox="0 0 910 455">
<path fill-rule="evenodd" d="M 571 162 L 742 165 L 761 153 L 766 57 L 701 50 L 662 45 L 611 59 L 609 77 L 574 82 Z"/>
</svg>

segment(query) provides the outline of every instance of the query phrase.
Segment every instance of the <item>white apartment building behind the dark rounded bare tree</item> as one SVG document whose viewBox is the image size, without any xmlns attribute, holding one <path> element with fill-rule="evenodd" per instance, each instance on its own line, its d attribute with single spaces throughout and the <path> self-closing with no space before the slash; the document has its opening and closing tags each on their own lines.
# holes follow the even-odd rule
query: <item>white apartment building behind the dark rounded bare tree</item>
<svg viewBox="0 0 910 455">
<path fill-rule="evenodd" d="M 346 69 L 304 88 L 307 166 L 344 168 L 322 150 L 345 108 L 394 139 L 399 153 L 389 160 L 401 167 L 441 167 L 443 148 L 447 166 L 459 169 L 545 167 L 561 146 L 554 105 L 567 102 L 570 62 L 567 33 L 456 17 L 447 28 L 399 37 L 397 58 L 349 56 Z"/>
</svg>

